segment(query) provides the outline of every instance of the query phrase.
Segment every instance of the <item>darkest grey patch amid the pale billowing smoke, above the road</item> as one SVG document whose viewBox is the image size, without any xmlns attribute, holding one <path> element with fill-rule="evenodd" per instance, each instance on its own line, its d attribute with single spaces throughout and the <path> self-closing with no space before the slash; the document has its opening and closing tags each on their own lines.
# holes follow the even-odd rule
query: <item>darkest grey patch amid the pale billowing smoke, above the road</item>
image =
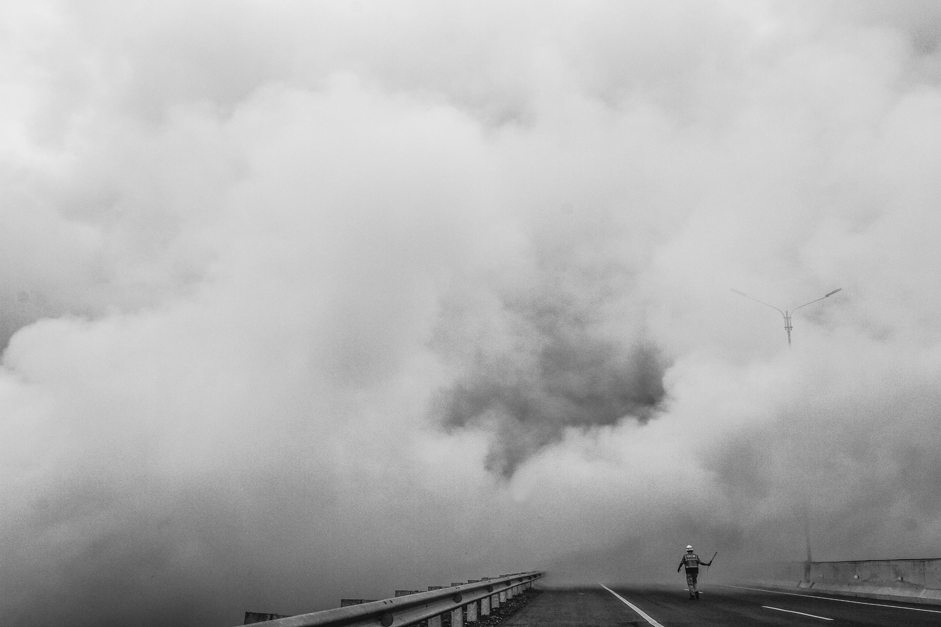
<svg viewBox="0 0 941 627">
<path fill-rule="evenodd" d="M 647 344 L 619 347 L 589 337 L 552 337 L 534 361 L 495 359 L 439 398 L 446 427 L 494 432 L 487 469 L 510 478 L 566 428 L 646 423 L 664 399 L 664 365 Z"/>
</svg>

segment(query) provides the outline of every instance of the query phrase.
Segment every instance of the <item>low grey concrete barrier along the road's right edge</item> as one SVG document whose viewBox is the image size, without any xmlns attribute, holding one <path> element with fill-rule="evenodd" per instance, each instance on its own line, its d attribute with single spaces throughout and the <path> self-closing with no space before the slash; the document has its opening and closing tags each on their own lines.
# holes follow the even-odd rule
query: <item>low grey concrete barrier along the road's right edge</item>
<svg viewBox="0 0 941 627">
<path fill-rule="evenodd" d="M 941 604 L 941 558 L 767 564 L 757 583 L 885 601 Z"/>
</svg>

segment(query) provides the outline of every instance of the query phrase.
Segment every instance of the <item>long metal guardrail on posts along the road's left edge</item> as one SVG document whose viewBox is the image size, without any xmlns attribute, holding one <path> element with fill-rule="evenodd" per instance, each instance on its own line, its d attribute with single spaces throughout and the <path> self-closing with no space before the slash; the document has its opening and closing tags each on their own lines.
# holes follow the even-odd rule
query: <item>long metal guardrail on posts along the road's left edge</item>
<svg viewBox="0 0 941 627">
<path fill-rule="evenodd" d="M 473 584 L 298 614 L 260 624 L 264 627 L 404 627 L 433 619 L 506 590 L 515 591 L 521 586 L 528 586 L 543 574 L 539 571 L 518 572 Z"/>
</svg>

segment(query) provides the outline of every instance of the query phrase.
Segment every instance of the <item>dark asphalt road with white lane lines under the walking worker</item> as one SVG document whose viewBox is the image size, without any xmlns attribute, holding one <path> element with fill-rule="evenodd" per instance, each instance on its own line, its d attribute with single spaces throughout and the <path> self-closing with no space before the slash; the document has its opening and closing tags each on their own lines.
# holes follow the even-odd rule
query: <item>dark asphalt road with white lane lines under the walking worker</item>
<svg viewBox="0 0 941 627">
<path fill-rule="evenodd" d="M 938 605 L 893 603 L 856 597 L 820 598 L 822 595 L 781 593 L 718 584 L 701 587 L 702 594 L 698 601 L 690 600 L 681 584 L 676 587 L 609 588 L 599 585 L 594 588 L 546 590 L 503 624 L 506 627 L 941 625 L 941 606 Z"/>
</svg>

